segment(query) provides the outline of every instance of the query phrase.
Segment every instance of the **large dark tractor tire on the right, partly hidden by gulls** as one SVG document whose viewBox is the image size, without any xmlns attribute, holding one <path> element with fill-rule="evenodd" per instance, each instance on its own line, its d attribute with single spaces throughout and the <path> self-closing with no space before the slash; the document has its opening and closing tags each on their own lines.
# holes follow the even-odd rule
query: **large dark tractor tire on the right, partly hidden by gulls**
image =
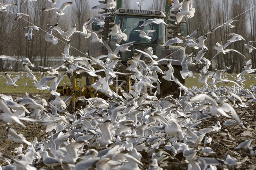
<svg viewBox="0 0 256 170">
<path fill-rule="evenodd" d="M 165 69 L 164 69 L 165 68 Z M 164 68 L 161 67 L 161 69 L 167 70 L 167 66 L 164 66 Z M 180 71 L 182 70 L 182 66 L 173 66 L 174 68 L 174 77 L 176 77 L 180 83 L 183 85 L 185 84 L 185 80 L 182 78 Z M 164 78 L 162 78 L 162 74 L 158 76 L 160 80 L 160 94 L 158 94 L 159 97 L 166 97 L 169 95 L 173 95 L 173 98 L 178 98 L 180 95 L 180 89 L 178 89 L 180 86 L 176 84 L 174 81 L 167 81 Z"/>
</svg>

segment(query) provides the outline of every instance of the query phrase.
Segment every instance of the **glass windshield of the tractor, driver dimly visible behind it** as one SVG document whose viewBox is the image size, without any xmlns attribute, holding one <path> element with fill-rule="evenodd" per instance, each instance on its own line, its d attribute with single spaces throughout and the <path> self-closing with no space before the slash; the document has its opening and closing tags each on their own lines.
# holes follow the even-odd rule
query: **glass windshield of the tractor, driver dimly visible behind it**
<svg viewBox="0 0 256 170">
<path fill-rule="evenodd" d="M 154 22 L 147 24 L 144 27 L 140 27 L 146 20 L 152 19 L 144 16 L 116 16 L 115 24 L 121 22 L 121 30 L 127 35 L 127 40 L 125 42 L 136 41 L 137 43 L 143 44 L 159 44 L 165 42 L 165 28 L 164 24 L 155 24 Z M 154 32 L 148 32 L 148 38 L 140 37 L 140 32 L 136 30 L 153 30 Z M 112 36 L 112 40 L 115 37 Z"/>
</svg>

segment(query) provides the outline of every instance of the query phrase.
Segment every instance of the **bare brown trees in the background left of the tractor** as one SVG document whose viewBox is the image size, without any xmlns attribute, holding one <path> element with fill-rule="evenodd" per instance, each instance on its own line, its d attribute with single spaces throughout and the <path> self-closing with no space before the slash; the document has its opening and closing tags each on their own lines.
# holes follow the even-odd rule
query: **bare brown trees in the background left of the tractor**
<svg viewBox="0 0 256 170">
<path fill-rule="evenodd" d="M 58 34 L 56 30 L 53 31 L 54 36 L 58 37 L 60 40 L 57 45 L 53 45 L 50 42 L 44 40 L 44 34 L 46 34 L 50 25 L 59 23 L 58 26 L 64 31 L 68 31 L 71 26 L 76 24 L 77 30 L 82 30 L 84 22 L 92 16 L 98 16 L 97 10 L 91 10 L 91 6 L 88 4 L 87 0 L 72 0 L 73 4 L 68 6 L 64 10 L 65 14 L 63 16 L 58 16 L 55 10 L 50 10 L 47 12 L 41 12 L 40 10 L 47 6 L 60 7 L 62 2 L 57 4 L 52 4 L 47 0 L 38 0 L 36 2 L 30 2 L 24 0 L 3 0 L 4 3 L 16 3 L 17 6 L 8 6 L 8 11 L 0 12 L 0 55 L 9 56 L 19 56 L 29 58 L 30 61 L 40 56 L 41 66 L 47 66 L 47 60 L 50 56 L 61 56 L 63 53 L 65 44 L 60 40 L 66 42 Z M 28 17 L 24 17 L 18 20 L 14 20 L 15 13 L 22 12 L 29 14 Z M 36 25 L 42 30 L 36 32 L 33 30 L 33 36 L 31 42 L 28 41 L 28 37 L 25 33 L 28 32 L 27 29 L 22 29 L 23 27 Z M 88 27 L 88 29 L 90 29 Z M 71 45 L 81 51 L 86 53 L 89 49 L 89 40 L 84 39 L 80 34 L 73 34 L 70 38 Z M 70 48 L 70 54 L 74 56 L 83 56 L 78 50 Z M 44 62 L 43 62 L 44 61 Z M 2 63 L 0 63 L 0 71 L 2 71 Z"/>
</svg>

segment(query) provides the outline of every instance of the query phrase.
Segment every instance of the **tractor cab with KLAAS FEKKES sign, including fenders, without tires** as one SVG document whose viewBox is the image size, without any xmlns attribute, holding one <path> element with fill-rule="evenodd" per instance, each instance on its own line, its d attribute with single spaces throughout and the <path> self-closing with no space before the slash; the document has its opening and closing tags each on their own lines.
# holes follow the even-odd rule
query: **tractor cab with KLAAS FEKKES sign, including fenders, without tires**
<svg viewBox="0 0 256 170">
<path fill-rule="evenodd" d="M 145 48 L 152 47 L 153 52 L 158 56 L 158 60 L 162 58 L 170 58 L 170 54 L 173 53 L 172 58 L 182 61 L 184 55 L 184 48 L 180 46 L 161 46 L 167 40 L 167 27 L 164 23 L 156 24 L 151 22 L 145 26 L 140 27 L 141 24 L 149 19 L 161 18 L 165 20 L 166 15 L 162 11 L 156 10 L 134 10 L 134 9 L 118 9 L 114 12 L 114 24 L 120 23 L 121 31 L 127 35 L 127 40 L 122 40 L 120 44 L 132 42 L 133 46 L 129 48 L 131 51 L 120 52 L 120 57 L 123 63 L 127 62 L 132 56 L 138 54 L 135 49 L 144 50 Z M 165 20 L 166 21 L 166 20 Z M 99 27 L 96 24 L 92 26 L 93 30 L 98 30 Z M 140 32 L 136 30 L 153 30 L 148 33 L 150 38 L 141 38 Z M 183 28 L 184 30 L 184 28 Z M 106 44 L 114 51 L 116 49 L 117 38 L 111 36 L 110 38 L 104 38 Z M 176 52 L 177 51 L 177 52 Z M 93 57 L 108 54 L 108 50 L 103 44 L 98 42 L 90 43 L 89 54 Z M 162 65 L 166 65 L 167 62 L 160 62 Z M 180 65 L 180 62 L 173 62 L 173 65 Z"/>
</svg>

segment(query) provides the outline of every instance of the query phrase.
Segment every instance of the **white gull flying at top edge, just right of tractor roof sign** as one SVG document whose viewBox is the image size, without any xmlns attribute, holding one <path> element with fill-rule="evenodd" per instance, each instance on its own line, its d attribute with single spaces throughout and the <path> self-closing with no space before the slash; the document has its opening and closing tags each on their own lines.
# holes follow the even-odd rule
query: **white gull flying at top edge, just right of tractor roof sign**
<svg viewBox="0 0 256 170">
<path fill-rule="evenodd" d="M 188 18 L 192 18 L 194 16 L 194 13 L 196 10 L 195 8 L 190 9 L 189 5 L 190 5 L 190 0 L 183 2 L 182 10 L 178 12 L 178 14 L 176 15 L 176 22 L 179 23 L 184 16 L 187 16 Z"/>
</svg>

